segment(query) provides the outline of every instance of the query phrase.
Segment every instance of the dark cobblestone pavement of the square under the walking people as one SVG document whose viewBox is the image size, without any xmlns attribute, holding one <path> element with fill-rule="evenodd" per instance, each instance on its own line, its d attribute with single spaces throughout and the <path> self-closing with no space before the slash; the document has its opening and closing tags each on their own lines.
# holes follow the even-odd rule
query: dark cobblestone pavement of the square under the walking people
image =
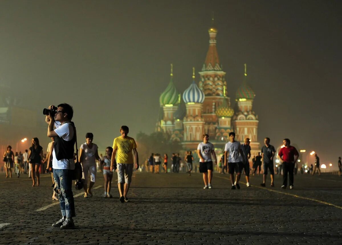
<svg viewBox="0 0 342 245">
<path fill-rule="evenodd" d="M 120 203 L 116 178 L 114 198 L 101 198 L 97 174 L 93 198 L 73 187 L 76 228 L 62 230 L 51 227 L 61 213 L 47 174 L 34 188 L 27 175 L 0 174 L 0 244 L 341 244 L 342 178 L 297 175 L 282 190 L 281 177 L 275 188 L 269 176 L 260 187 L 260 175 L 231 190 L 228 175 L 214 174 L 203 190 L 200 174 L 136 172 L 131 202 Z"/>
</svg>

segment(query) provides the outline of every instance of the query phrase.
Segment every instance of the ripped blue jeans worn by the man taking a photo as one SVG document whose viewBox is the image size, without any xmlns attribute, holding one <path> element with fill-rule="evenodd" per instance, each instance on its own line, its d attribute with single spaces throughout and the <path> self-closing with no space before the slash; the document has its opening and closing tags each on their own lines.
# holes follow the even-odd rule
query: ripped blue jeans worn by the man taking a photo
<svg viewBox="0 0 342 245">
<path fill-rule="evenodd" d="M 72 182 L 69 169 L 53 169 L 53 179 L 57 185 L 55 185 L 56 194 L 60 200 L 62 216 L 67 218 L 75 217 L 75 203 L 74 195 L 71 190 Z"/>
</svg>

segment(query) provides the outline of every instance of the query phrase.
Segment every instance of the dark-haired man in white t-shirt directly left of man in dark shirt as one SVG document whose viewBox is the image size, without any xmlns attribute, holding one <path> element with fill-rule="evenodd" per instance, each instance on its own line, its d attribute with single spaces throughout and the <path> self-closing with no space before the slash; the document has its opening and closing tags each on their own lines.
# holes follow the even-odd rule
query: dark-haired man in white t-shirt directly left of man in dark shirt
<svg viewBox="0 0 342 245">
<path fill-rule="evenodd" d="M 245 154 L 241 149 L 240 142 L 235 141 L 235 133 L 229 133 L 230 141 L 226 143 L 224 147 L 224 166 L 227 166 L 227 155 L 228 155 L 228 173 L 231 175 L 232 190 L 240 189 L 239 180 L 242 172 L 240 167 L 240 156 L 245 158 Z M 245 161 L 246 162 L 246 159 Z M 236 188 L 234 185 L 234 171 L 236 172 Z"/>
</svg>

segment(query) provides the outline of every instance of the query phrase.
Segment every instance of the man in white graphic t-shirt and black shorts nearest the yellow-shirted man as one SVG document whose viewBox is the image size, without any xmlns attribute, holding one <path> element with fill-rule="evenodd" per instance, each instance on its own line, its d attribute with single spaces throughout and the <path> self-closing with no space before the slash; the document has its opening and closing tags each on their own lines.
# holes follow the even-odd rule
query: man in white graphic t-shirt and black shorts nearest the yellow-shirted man
<svg viewBox="0 0 342 245">
<path fill-rule="evenodd" d="M 203 173 L 203 181 L 204 187 L 203 189 L 211 189 L 211 180 L 212 180 L 212 171 L 213 171 L 213 162 L 211 159 L 211 155 L 215 160 L 215 164 L 217 165 L 216 154 L 214 150 L 214 145 L 209 141 L 209 135 L 203 134 L 203 142 L 198 144 L 197 154 L 199 157 L 199 172 Z"/>
</svg>

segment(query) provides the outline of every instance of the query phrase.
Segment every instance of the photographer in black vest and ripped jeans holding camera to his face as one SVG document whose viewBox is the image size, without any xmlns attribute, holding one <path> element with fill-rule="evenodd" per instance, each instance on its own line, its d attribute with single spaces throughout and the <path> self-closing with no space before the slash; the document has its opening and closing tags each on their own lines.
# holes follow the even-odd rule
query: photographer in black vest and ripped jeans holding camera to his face
<svg viewBox="0 0 342 245">
<path fill-rule="evenodd" d="M 55 191 L 59 196 L 62 219 L 53 223 L 53 227 L 62 229 L 74 228 L 75 204 L 72 184 L 72 170 L 75 169 L 74 145 L 76 129 L 71 119 L 74 110 L 70 105 L 63 103 L 57 107 L 51 105 L 49 110 L 44 109 L 45 121 L 48 126 L 48 137 L 54 137 L 52 151 L 53 177 L 56 183 Z M 48 114 L 48 115 L 47 115 Z M 55 129 L 53 129 L 55 126 Z"/>
</svg>

